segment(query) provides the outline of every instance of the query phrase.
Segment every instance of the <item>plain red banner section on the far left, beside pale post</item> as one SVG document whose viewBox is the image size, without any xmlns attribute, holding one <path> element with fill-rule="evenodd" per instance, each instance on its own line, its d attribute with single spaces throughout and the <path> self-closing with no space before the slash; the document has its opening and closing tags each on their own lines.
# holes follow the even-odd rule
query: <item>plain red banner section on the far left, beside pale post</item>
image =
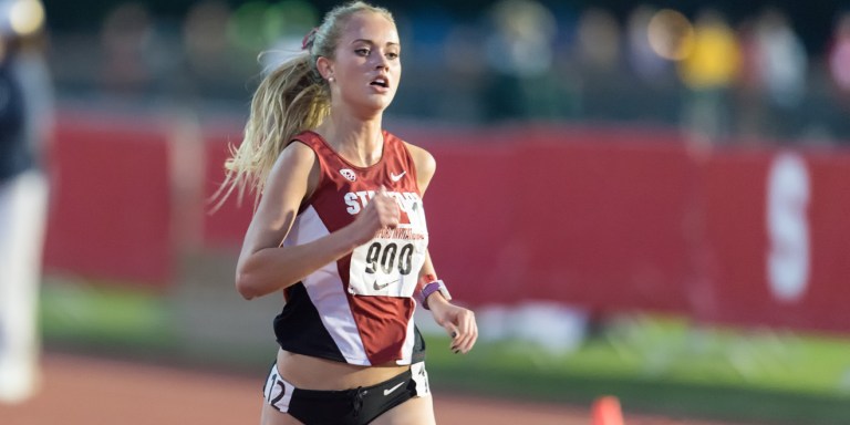
<svg viewBox="0 0 850 425">
<path fill-rule="evenodd" d="M 76 114 L 58 124 L 45 268 L 165 286 L 175 252 L 163 126 L 151 120 Z"/>
</svg>

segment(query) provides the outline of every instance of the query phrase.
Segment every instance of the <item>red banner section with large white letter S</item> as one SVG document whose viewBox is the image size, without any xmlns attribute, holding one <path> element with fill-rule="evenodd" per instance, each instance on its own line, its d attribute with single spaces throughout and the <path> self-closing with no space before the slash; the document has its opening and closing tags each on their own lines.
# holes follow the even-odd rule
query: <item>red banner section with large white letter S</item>
<svg viewBox="0 0 850 425">
<path fill-rule="evenodd" d="M 850 331 L 850 155 L 729 152 L 703 177 L 696 317 Z"/>
</svg>

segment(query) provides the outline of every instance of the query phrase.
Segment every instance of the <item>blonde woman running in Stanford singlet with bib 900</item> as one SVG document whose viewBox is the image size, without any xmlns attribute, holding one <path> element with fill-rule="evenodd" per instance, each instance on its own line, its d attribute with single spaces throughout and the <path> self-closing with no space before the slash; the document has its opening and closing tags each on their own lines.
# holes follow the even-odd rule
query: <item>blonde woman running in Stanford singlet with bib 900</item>
<svg viewBox="0 0 850 425">
<path fill-rule="evenodd" d="M 456 353 L 478 331 L 427 251 L 434 157 L 382 128 L 402 71 L 393 17 L 346 3 L 302 48 L 257 89 L 222 185 L 258 198 L 237 290 L 286 300 L 262 423 L 433 424 L 414 310 L 431 310 Z"/>
</svg>

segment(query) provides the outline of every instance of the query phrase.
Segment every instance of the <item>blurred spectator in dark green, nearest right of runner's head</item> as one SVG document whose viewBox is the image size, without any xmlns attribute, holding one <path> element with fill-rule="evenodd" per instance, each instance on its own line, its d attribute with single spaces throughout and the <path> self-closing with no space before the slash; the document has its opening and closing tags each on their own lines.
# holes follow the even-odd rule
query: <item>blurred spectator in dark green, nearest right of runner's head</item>
<svg viewBox="0 0 850 425">
<path fill-rule="evenodd" d="M 533 0 L 501 0 L 489 10 L 494 32 L 486 41 L 491 70 L 485 90 L 494 121 L 557 116 L 552 42 L 558 30 L 551 11 Z"/>
</svg>

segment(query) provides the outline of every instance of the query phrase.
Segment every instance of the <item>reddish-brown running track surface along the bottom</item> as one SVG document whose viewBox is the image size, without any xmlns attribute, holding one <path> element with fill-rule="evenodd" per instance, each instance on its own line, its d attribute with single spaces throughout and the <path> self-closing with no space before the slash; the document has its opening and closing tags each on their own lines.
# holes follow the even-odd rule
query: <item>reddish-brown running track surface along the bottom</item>
<svg viewBox="0 0 850 425">
<path fill-rule="evenodd" d="M 265 376 L 215 374 L 68 354 L 42 359 L 35 397 L 0 405 L 3 425 L 258 424 Z M 448 424 L 590 425 L 590 408 L 435 394 Z M 625 414 L 625 425 L 723 425 Z"/>
</svg>

